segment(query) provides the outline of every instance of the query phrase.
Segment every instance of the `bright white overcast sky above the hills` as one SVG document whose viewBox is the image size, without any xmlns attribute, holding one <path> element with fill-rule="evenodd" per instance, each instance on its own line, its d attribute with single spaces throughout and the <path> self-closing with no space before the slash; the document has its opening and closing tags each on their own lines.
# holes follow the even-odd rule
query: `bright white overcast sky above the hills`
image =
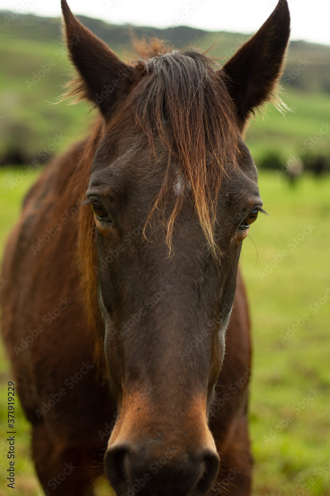
<svg viewBox="0 0 330 496">
<path fill-rule="evenodd" d="M 74 14 L 113 24 L 254 33 L 277 0 L 68 0 Z M 288 0 L 291 40 L 330 45 L 330 0 Z M 1 10 L 60 16 L 60 0 L 0 0 Z M 0 20 L 1 21 L 1 20 Z"/>
</svg>

